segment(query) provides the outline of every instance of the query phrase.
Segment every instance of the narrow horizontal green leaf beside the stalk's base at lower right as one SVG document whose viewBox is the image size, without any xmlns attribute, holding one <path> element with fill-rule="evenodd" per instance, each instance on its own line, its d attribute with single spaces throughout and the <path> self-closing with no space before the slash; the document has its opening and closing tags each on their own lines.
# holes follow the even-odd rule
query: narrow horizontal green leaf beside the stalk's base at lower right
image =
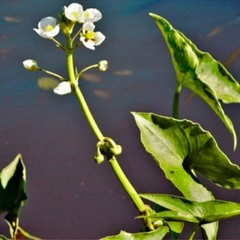
<svg viewBox="0 0 240 240">
<path fill-rule="evenodd" d="M 166 194 L 139 194 L 139 196 L 171 210 L 150 215 L 150 218 L 192 223 L 197 220 L 195 223 L 206 224 L 240 215 L 240 204 L 235 202 L 220 200 L 196 202 Z M 167 212 L 170 214 L 168 215 Z"/>
</svg>

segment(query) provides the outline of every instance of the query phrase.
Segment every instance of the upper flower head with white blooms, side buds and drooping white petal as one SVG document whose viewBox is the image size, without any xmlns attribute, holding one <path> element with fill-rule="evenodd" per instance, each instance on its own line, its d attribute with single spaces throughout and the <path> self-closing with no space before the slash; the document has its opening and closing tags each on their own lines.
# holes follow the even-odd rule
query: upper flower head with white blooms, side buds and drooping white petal
<svg viewBox="0 0 240 240">
<path fill-rule="evenodd" d="M 33 30 L 41 37 L 54 41 L 56 46 L 63 49 L 71 59 L 73 51 L 80 46 L 81 43 L 85 47 L 94 50 L 95 46 L 98 46 L 105 40 L 105 36 L 101 32 L 95 32 L 94 23 L 102 18 L 101 12 L 96 8 L 88 8 L 83 10 L 82 5 L 78 3 L 72 3 L 68 7 L 65 6 L 63 8 L 63 12 L 59 15 L 59 18 L 60 20 L 58 21 L 54 17 L 45 17 L 38 23 L 38 28 L 34 28 Z M 71 34 L 76 24 L 80 24 L 81 26 L 72 37 Z M 62 45 L 54 38 L 60 32 L 60 30 L 67 39 L 66 46 Z M 73 42 L 77 39 L 77 37 L 79 37 L 79 41 L 74 45 Z M 68 58 L 68 68 L 71 67 L 73 69 L 73 62 L 70 58 Z M 54 72 L 39 67 L 38 63 L 33 59 L 23 61 L 23 66 L 29 71 L 40 70 L 59 78 L 61 82 L 53 89 L 53 92 L 58 95 L 65 95 L 71 93 L 72 87 L 78 87 L 78 79 L 82 73 L 96 67 L 100 71 L 106 71 L 108 68 L 108 62 L 106 60 L 102 60 L 99 61 L 98 64 L 88 66 L 79 72 L 76 70 L 76 74 L 71 74 L 70 80 L 66 80 Z"/>
</svg>

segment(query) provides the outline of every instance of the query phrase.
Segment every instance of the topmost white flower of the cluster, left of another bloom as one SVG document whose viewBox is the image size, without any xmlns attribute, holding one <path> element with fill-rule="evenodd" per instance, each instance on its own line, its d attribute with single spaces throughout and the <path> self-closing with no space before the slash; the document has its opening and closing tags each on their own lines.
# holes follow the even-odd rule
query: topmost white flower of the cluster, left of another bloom
<svg viewBox="0 0 240 240">
<path fill-rule="evenodd" d="M 83 22 L 83 7 L 78 3 L 71 3 L 68 7 L 64 7 L 64 14 L 67 19 L 73 22 Z"/>
</svg>

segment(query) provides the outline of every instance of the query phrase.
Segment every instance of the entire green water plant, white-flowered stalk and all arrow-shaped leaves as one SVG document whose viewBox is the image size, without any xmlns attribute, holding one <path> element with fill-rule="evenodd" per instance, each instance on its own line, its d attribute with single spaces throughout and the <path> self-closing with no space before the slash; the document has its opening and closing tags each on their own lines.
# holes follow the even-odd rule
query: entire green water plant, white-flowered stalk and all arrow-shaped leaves
<svg viewBox="0 0 240 240">
<path fill-rule="evenodd" d="M 139 211 L 137 219 L 142 219 L 144 224 L 141 232 L 121 231 L 116 236 L 103 239 L 163 239 L 169 237 L 168 233 L 171 233 L 172 239 L 177 239 L 181 237 L 186 222 L 194 225 L 189 233 L 189 239 L 194 238 L 198 229 L 201 229 L 203 238 L 216 239 L 218 222 L 240 215 L 240 204 L 215 200 L 213 194 L 198 179 L 197 172 L 218 186 L 239 189 L 240 168 L 231 163 L 219 149 L 210 132 L 202 129 L 198 123 L 178 119 L 179 94 L 182 87 L 187 87 L 205 100 L 230 131 L 235 149 L 236 132 L 231 120 L 224 113 L 220 100 L 224 103 L 240 102 L 240 85 L 221 63 L 213 59 L 209 53 L 200 51 L 167 20 L 152 13 L 150 16 L 163 34 L 176 72 L 177 86 L 173 98 L 173 115 L 167 117 L 140 112 L 132 112 L 132 115 L 140 129 L 141 141 L 146 151 L 183 196 L 161 193 L 139 194 L 118 164 L 117 156 L 121 154 L 122 147 L 101 132 L 84 99 L 79 86 L 82 74 L 91 68 L 106 71 L 108 67 L 108 62 L 102 60 L 79 71 L 73 59 L 73 54 L 79 46 L 83 45 L 90 50 L 95 50 L 104 41 L 105 36 L 101 32 L 95 32 L 95 22 L 102 17 L 99 10 L 95 8 L 83 10 L 80 4 L 72 3 L 63 8 L 63 12 L 59 14 L 59 20 L 54 17 L 43 18 L 38 28 L 34 29 L 41 37 L 53 41 L 65 52 L 68 70 L 66 78 L 39 67 L 35 60 L 25 60 L 23 65 L 29 71 L 40 70 L 58 78 L 60 82 L 53 89 L 54 93 L 75 94 L 97 138 L 94 160 L 98 164 L 105 159 L 108 160 Z M 76 29 L 77 26 L 78 29 Z M 55 39 L 60 31 L 66 38 L 65 45 Z M 15 177 L 16 173 L 17 177 Z M 8 212 L 6 220 L 10 226 L 11 237 L 37 239 L 27 234 L 18 224 L 20 208 L 27 199 L 26 170 L 21 155 L 2 170 L 0 180 L 1 196 L 4 196 L 4 199 L 16 200 L 9 201 L 8 204 L 0 201 L 2 212 Z M 16 189 L 10 191 L 13 180 L 16 181 L 14 184 Z M 13 191 L 14 195 L 12 195 Z M 152 201 L 154 205 L 146 205 L 145 199 Z"/>
</svg>

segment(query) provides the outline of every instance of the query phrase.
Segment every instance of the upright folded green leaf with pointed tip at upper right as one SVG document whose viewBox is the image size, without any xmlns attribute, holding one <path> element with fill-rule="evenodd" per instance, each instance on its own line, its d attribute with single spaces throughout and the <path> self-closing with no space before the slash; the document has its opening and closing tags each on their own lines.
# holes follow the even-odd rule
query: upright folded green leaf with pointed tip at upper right
<svg viewBox="0 0 240 240">
<path fill-rule="evenodd" d="M 213 59 L 209 53 L 200 51 L 166 19 L 152 13 L 150 16 L 167 43 L 178 82 L 198 94 L 213 109 L 232 134 L 235 149 L 236 132 L 219 100 L 224 103 L 239 103 L 239 83 L 220 62 Z"/>
</svg>

